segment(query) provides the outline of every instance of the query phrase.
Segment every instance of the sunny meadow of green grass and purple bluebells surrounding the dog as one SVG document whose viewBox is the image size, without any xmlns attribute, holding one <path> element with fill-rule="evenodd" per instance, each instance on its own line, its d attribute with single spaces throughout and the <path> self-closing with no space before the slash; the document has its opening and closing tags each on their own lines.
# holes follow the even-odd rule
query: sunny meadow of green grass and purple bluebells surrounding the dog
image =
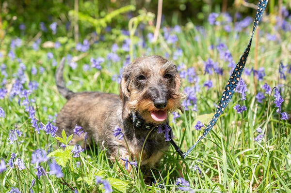
<svg viewBox="0 0 291 193">
<path fill-rule="evenodd" d="M 69 89 L 116 94 L 122 69 L 133 59 L 172 60 L 185 112 L 174 112 L 170 126 L 186 151 L 216 110 L 250 38 L 255 10 L 249 16 L 210 13 L 202 25 L 164 22 L 156 41 L 149 12 L 126 15 L 127 29 L 99 25 L 92 31 L 84 29 L 95 20 L 79 15 L 78 42 L 74 25 L 62 20 L 32 25 L 33 36 L 30 26 L 7 24 L 0 39 L 0 192 L 291 193 L 291 14 L 282 10 L 263 15 L 238 89 L 210 134 L 186 159 L 172 147 L 164 152 L 152 184 L 144 182 L 139 162 L 128 173 L 109 161 L 106 149 L 82 149 L 70 145 L 72 136 L 55 135 L 66 102 L 54 80 L 61 59 Z"/>
</svg>

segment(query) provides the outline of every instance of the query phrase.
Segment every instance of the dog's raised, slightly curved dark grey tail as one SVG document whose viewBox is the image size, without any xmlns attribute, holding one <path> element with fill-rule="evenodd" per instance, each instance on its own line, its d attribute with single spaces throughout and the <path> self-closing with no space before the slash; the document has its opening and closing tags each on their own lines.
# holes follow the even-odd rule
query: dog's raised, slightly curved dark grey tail
<svg viewBox="0 0 291 193">
<path fill-rule="evenodd" d="M 61 60 L 61 63 L 59 67 L 57 68 L 55 79 L 56 79 L 56 84 L 57 84 L 59 93 L 63 95 L 66 99 L 70 99 L 71 95 L 74 94 L 74 92 L 65 87 L 65 81 L 63 78 L 64 65 L 65 65 L 65 57 Z"/>
</svg>

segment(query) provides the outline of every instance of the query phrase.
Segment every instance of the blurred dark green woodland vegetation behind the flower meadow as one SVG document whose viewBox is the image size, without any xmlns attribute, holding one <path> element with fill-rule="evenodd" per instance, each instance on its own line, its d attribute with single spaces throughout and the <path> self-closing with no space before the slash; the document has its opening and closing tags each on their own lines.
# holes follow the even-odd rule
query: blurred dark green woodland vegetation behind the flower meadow
<svg viewBox="0 0 291 193">
<path fill-rule="evenodd" d="M 257 3 L 258 0 L 163 0 L 162 26 L 185 25 L 190 21 L 201 25 L 211 12 L 251 15 Z M 267 13 L 280 15 L 282 6 L 290 7 L 291 1 L 269 0 Z M 41 22 L 48 27 L 53 21 L 64 26 L 58 28 L 59 36 L 72 37 L 76 11 L 81 36 L 93 31 L 106 33 L 109 27 L 128 29 L 130 18 L 141 12 L 156 15 L 157 7 L 158 0 L 0 0 L 0 38 L 4 33 L 35 35 L 40 31 Z M 117 13 L 110 15 L 114 10 Z M 19 30 L 21 24 L 25 29 Z"/>
</svg>

